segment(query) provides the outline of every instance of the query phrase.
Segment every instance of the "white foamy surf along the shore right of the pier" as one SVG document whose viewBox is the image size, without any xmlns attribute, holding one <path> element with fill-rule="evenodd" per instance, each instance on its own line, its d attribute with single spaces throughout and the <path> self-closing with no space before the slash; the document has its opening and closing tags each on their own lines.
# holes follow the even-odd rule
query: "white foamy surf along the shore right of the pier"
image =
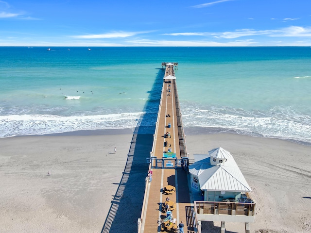
<svg viewBox="0 0 311 233">
<path fill-rule="evenodd" d="M 213 107 L 209 110 L 182 108 L 185 127 L 223 128 L 245 135 L 276 137 L 311 143 L 311 116 L 291 108 L 246 111 Z"/>
</svg>

